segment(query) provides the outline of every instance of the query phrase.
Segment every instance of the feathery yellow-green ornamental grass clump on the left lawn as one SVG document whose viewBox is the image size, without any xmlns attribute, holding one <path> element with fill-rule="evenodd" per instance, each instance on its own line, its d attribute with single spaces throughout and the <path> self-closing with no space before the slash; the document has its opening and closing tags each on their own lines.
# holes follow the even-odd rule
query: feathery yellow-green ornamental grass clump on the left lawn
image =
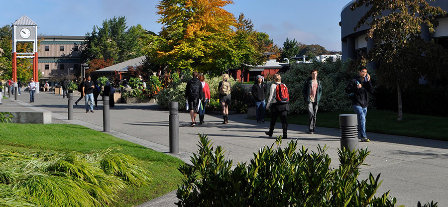
<svg viewBox="0 0 448 207">
<path fill-rule="evenodd" d="M 150 182 L 137 159 L 115 150 L 88 154 L 1 150 L 0 206 L 109 206 L 117 191 Z"/>
</svg>

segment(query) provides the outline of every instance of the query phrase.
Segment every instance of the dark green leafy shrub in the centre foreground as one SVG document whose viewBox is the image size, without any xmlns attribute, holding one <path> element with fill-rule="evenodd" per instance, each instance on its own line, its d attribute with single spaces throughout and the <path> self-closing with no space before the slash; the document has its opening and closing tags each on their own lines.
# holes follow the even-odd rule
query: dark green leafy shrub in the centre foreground
<svg viewBox="0 0 448 207">
<path fill-rule="evenodd" d="M 193 154 L 193 166 L 183 165 L 179 171 L 184 180 L 177 191 L 178 206 L 185 207 L 394 207 L 396 199 L 389 191 L 375 197 L 380 175 L 369 174 L 360 180 L 359 167 L 367 155 L 365 150 L 339 150 L 339 167 L 330 167 L 326 147 L 309 152 L 291 141 L 280 148 L 281 137 L 274 146 L 265 146 L 246 163 L 231 170 L 232 160 L 225 160 L 224 149 L 215 150 L 200 135 L 200 149 Z M 425 206 L 435 207 L 436 204 Z"/>
</svg>

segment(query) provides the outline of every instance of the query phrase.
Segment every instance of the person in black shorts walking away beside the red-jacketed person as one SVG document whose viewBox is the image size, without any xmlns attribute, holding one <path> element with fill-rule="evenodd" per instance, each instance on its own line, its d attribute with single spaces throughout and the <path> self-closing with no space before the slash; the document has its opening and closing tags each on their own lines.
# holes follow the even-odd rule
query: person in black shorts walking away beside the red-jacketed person
<svg viewBox="0 0 448 207">
<path fill-rule="evenodd" d="M 198 79 L 199 73 L 193 72 L 193 78 L 187 82 L 185 97 L 187 98 L 187 110 L 190 110 L 191 127 L 196 126 L 196 113 L 199 111 L 199 104 L 204 100 L 202 84 Z"/>
</svg>

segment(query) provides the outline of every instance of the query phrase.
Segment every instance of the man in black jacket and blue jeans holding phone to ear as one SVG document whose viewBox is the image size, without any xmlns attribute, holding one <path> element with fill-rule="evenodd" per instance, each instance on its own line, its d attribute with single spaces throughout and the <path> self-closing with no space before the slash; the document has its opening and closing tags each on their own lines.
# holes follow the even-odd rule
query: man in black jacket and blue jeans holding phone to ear
<svg viewBox="0 0 448 207">
<path fill-rule="evenodd" d="M 358 115 L 358 130 L 361 133 L 361 142 L 370 141 L 365 133 L 365 115 L 369 105 L 369 94 L 372 92 L 373 86 L 370 75 L 367 73 L 367 68 L 361 66 L 359 67 L 359 75 L 352 78 L 345 88 L 345 93 L 349 94 L 351 99 L 351 106 Z"/>
</svg>

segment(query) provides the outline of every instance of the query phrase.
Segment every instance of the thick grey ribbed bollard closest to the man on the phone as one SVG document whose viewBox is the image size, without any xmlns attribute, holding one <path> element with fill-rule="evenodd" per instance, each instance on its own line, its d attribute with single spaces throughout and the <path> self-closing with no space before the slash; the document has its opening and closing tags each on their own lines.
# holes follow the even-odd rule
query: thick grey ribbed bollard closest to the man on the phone
<svg viewBox="0 0 448 207">
<path fill-rule="evenodd" d="M 340 114 L 340 148 L 350 151 L 358 148 L 358 116 L 356 114 Z"/>
</svg>

